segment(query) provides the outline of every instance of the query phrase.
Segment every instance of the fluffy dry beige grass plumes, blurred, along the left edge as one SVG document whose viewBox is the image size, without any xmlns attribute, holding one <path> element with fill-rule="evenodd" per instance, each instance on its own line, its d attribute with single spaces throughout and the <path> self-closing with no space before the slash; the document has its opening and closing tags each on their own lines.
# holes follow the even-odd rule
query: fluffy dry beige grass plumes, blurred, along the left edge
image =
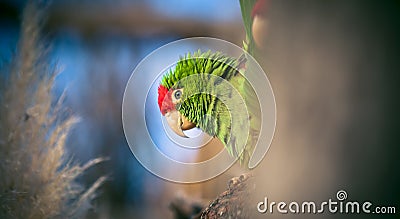
<svg viewBox="0 0 400 219">
<path fill-rule="evenodd" d="M 81 218 L 106 177 L 86 190 L 76 179 L 104 159 L 68 162 L 66 139 L 78 119 L 63 96 L 54 101 L 57 72 L 41 41 L 38 7 L 27 4 L 17 54 L 0 74 L 0 218 Z"/>
</svg>

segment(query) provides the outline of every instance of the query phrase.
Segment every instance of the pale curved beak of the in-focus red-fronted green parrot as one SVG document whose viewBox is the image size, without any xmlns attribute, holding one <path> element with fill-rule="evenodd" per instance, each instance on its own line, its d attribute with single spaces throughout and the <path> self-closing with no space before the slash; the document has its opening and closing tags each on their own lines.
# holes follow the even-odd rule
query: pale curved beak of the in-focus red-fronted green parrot
<svg viewBox="0 0 400 219">
<path fill-rule="evenodd" d="M 171 110 L 165 114 L 169 127 L 179 136 L 188 138 L 183 130 L 195 127 L 194 123 L 189 122 L 178 110 Z"/>
</svg>

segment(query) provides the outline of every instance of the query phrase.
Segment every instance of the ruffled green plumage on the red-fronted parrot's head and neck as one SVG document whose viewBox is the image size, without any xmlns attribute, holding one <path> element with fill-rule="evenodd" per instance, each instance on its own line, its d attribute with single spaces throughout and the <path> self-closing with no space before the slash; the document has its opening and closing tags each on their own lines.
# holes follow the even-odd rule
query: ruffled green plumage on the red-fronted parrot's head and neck
<svg viewBox="0 0 400 219">
<path fill-rule="evenodd" d="M 183 89 L 184 101 L 177 104 L 177 110 L 202 131 L 220 139 L 230 155 L 247 163 L 258 138 L 261 113 L 253 88 L 240 72 L 242 62 L 243 57 L 218 52 L 188 53 L 164 75 L 161 84 L 167 89 Z M 245 125 L 249 133 L 243 130 Z"/>
</svg>

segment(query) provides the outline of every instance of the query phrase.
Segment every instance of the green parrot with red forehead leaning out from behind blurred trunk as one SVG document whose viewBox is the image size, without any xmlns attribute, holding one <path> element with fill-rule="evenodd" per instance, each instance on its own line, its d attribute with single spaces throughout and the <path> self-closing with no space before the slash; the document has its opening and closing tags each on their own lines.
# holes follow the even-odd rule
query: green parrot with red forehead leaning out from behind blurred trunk
<svg viewBox="0 0 400 219">
<path fill-rule="evenodd" d="M 219 52 L 188 53 L 161 79 L 158 105 L 170 128 L 185 137 L 184 130 L 200 128 L 218 138 L 228 153 L 247 164 L 261 129 L 257 95 L 246 79 L 254 42 L 251 4 L 241 1 L 247 39 L 240 57 Z"/>
</svg>

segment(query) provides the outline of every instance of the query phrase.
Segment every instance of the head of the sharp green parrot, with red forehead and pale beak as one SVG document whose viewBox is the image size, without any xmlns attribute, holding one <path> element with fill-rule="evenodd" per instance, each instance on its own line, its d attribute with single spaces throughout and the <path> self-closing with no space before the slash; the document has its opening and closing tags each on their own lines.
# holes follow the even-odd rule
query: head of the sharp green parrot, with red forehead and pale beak
<svg viewBox="0 0 400 219">
<path fill-rule="evenodd" d="M 211 117 L 219 117 L 213 107 L 219 100 L 212 90 L 217 82 L 211 82 L 207 75 L 228 79 L 233 76 L 236 60 L 220 53 L 188 53 L 176 66 L 162 77 L 158 87 L 158 106 L 169 127 L 179 136 L 194 127 L 213 136 L 216 127 Z M 208 117 L 208 118 L 206 118 Z"/>
</svg>

